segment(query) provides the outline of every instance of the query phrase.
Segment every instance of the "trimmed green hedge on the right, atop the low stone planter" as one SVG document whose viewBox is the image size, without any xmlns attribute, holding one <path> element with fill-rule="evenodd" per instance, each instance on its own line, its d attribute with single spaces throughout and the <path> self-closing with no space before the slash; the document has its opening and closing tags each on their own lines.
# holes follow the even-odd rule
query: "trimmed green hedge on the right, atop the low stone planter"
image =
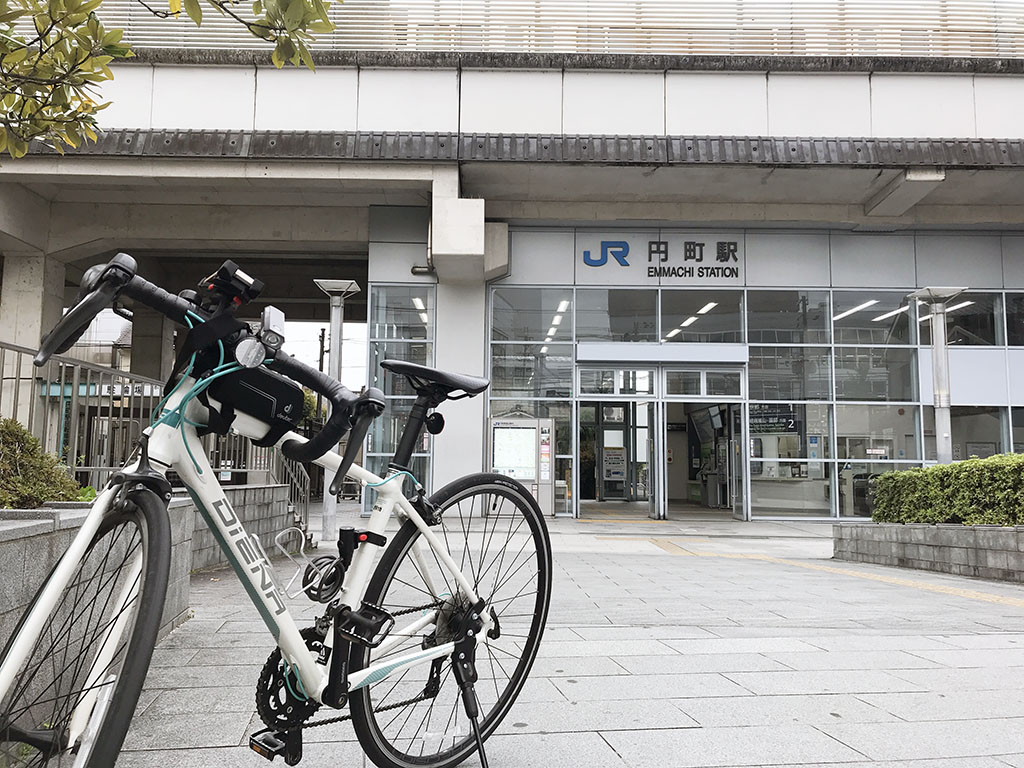
<svg viewBox="0 0 1024 768">
<path fill-rule="evenodd" d="M 886 472 L 876 481 L 871 519 L 1024 525 L 1024 455 Z"/>
</svg>

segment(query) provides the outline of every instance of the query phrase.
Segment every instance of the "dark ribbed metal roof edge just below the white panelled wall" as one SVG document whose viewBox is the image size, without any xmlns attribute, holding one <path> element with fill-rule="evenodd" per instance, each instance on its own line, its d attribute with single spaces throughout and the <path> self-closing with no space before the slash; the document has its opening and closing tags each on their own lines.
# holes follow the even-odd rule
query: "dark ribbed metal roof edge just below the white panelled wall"
<svg viewBox="0 0 1024 768">
<path fill-rule="evenodd" d="M 35 155 L 55 155 L 34 146 Z M 1024 167 L 1024 139 L 583 136 L 416 132 L 109 130 L 76 157 L 258 161 Z"/>
</svg>

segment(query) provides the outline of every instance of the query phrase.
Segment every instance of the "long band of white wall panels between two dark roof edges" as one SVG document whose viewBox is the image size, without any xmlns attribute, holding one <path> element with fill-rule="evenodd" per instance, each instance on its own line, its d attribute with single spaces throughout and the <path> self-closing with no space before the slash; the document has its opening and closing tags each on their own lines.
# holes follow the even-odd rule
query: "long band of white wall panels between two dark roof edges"
<svg viewBox="0 0 1024 768">
<path fill-rule="evenodd" d="M 105 128 L 1024 138 L 1024 76 L 120 65 Z"/>
</svg>

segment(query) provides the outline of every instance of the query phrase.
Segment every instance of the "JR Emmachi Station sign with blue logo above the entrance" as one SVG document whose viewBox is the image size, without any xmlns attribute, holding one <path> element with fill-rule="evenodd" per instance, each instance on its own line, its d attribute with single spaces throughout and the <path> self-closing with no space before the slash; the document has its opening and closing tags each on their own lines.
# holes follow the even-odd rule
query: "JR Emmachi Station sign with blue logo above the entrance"
<svg viewBox="0 0 1024 768">
<path fill-rule="evenodd" d="M 578 231 L 575 282 L 597 286 L 740 287 L 742 232 Z"/>
</svg>

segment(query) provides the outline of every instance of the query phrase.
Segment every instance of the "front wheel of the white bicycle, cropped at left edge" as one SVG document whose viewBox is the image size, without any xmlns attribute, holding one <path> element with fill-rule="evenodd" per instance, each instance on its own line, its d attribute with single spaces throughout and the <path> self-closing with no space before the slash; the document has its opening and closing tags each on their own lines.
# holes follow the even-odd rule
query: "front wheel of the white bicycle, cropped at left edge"
<svg viewBox="0 0 1024 768">
<path fill-rule="evenodd" d="M 166 504 L 152 492 L 133 492 L 104 516 L 0 699 L 0 768 L 114 765 L 157 641 L 170 541 Z M 30 631 L 29 613 L 55 570 L 23 614 L 0 665 Z M 86 696 L 93 706 L 72 744 L 72 716 Z"/>
</svg>

